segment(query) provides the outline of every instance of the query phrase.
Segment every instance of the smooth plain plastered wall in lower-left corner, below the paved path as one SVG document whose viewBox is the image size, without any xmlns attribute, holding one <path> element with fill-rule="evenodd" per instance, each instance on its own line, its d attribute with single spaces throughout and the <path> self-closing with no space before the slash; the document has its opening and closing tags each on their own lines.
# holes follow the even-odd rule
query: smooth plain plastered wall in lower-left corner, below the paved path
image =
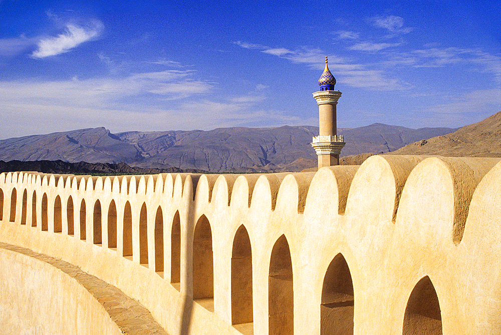
<svg viewBox="0 0 501 335">
<path fill-rule="evenodd" d="M 122 334 L 73 278 L 42 260 L 0 248 L 0 324 L 5 334 Z"/>
</svg>

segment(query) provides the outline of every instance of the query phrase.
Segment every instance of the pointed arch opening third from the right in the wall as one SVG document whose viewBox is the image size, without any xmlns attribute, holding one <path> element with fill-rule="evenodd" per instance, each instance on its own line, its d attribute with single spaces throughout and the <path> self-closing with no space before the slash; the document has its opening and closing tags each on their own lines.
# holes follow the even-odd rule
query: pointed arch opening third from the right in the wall
<svg viewBox="0 0 501 335">
<path fill-rule="evenodd" d="M 268 276 L 269 334 L 294 334 L 294 286 L 291 251 L 285 235 L 272 249 Z"/>
</svg>

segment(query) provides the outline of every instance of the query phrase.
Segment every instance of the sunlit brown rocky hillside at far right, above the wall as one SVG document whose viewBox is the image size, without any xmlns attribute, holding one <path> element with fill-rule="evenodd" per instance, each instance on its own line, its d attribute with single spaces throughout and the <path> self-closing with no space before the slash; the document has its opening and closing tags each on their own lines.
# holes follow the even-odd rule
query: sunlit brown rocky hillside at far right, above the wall
<svg viewBox="0 0 501 335">
<path fill-rule="evenodd" d="M 409 144 L 392 154 L 501 157 L 501 112 L 453 133 Z"/>
</svg>

